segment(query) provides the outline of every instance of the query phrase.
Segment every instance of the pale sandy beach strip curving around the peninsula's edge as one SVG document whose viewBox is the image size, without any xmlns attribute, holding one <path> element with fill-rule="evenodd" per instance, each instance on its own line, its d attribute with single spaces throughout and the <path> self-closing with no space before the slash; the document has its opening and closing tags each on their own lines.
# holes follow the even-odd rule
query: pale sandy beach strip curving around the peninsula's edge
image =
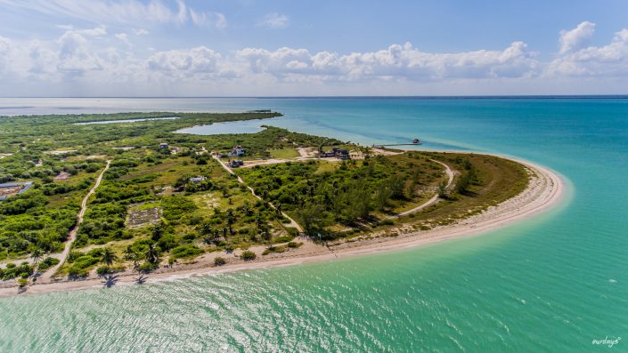
<svg viewBox="0 0 628 353">
<path fill-rule="evenodd" d="M 332 246 L 314 245 L 313 242 L 300 238 L 299 241 L 304 242 L 304 246 L 296 250 L 287 253 L 273 253 L 264 257 L 259 256 L 258 259 L 260 260 L 257 261 L 234 261 L 234 263 L 230 262 L 222 267 L 212 266 L 213 258 L 222 255 L 222 253 L 206 254 L 200 256 L 200 258 L 205 259 L 195 261 L 191 265 L 181 265 L 177 268 L 165 270 L 159 269 L 155 273 L 148 274 L 146 275 L 148 278 L 146 284 L 249 269 L 294 266 L 358 255 L 388 253 L 421 245 L 430 245 L 460 237 L 476 236 L 493 229 L 499 229 L 516 221 L 522 221 L 538 213 L 542 213 L 559 204 L 559 201 L 564 196 L 565 184 L 558 174 L 538 164 L 510 156 L 501 157 L 525 165 L 529 171 L 535 174 L 535 177 L 530 179 L 528 187 L 518 196 L 510 198 L 500 205 L 489 207 L 485 212 L 471 216 L 468 219 L 463 219 L 453 225 L 437 227 L 425 231 L 412 231 L 400 234 L 397 237 L 371 237 L 362 240 L 349 239 L 348 241 Z M 135 285 L 135 276 L 135 274 L 121 274 L 115 286 Z M 103 288 L 102 278 L 89 278 L 77 281 L 66 280 L 49 284 L 29 285 L 28 290 L 24 293 L 18 293 L 17 287 L 15 286 L 0 288 L 0 298 L 14 295 L 100 288 Z"/>
</svg>

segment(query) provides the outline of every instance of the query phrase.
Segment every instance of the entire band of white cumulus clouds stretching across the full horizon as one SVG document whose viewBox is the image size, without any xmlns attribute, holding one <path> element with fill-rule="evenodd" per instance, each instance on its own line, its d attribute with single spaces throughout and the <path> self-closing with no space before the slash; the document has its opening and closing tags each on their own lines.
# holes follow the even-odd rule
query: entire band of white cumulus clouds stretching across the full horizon
<svg viewBox="0 0 628 353">
<path fill-rule="evenodd" d="M 192 13 L 189 8 L 185 11 Z M 206 16 L 205 21 L 209 20 Z M 444 53 L 422 51 L 405 43 L 370 52 L 310 52 L 290 47 L 216 52 L 200 45 L 167 51 L 153 49 L 142 55 L 131 42 L 139 40 L 135 36 L 148 35 L 145 29 L 109 33 L 105 26 L 70 28 L 49 41 L 0 36 L 0 80 L 5 83 L 5 90 L 39 82 L 41 87 L 70 83 L 71 87 L 82 84 L 81 87 L 99 90 L 85 88 L 86 94 L 114 90 L 113 87 L 119 87 L 116 84 L 135 87 L 135 94 L 184 86 L 197 87 L 201 94 L 221 94 L 222 86 L 232 87 L 233 92 L 249 90 L 241 94 L 256 94 L 268 92 L 269 87 L 290 87 L 289 92 L 298 93 L 316 86 L 318 92 L 347 93 L 342 91 L 347 87 L 412 88 L 461 83 L 496 86 L 504 81 L 534 86 L 531 83 L 542 80 L 628 76 L 628 29 L 616 32 L 608 44 L 591 46 L 585 40 L 593 33 L 585 33 L 586 28 L 594 25 L 581 24 L 561 32 L 561 51 L 549 62 L 539 61 L 537 53 L 524 42 L 513 42 L 499 50 Z M 609 78 L 605 82 L 610 81 Z M 202 91 L 210 85 L 214 91 Z"/>
</svg>

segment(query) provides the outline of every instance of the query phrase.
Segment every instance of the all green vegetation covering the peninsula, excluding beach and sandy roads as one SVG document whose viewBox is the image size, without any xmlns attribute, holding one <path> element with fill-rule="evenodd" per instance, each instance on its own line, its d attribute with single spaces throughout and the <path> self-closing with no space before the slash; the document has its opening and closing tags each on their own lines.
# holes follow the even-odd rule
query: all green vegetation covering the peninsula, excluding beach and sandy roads
<svg viewBox="0 0 628 353">
<path fill-rule="evenodd" d="M 87 124 L 143 117 L 179 116 L 133 124 Z M 482 155 L 407 152 L 371 156 L 369 148 L 266 126 L 252 134 L 200 136 L 184 127 L 270 118 L 277 113 L 127 113 L 0 117 L 0 182 L 32 181 L 27 192 L 0 201 L 0 278 L 28 278 L 59 261 L 80 203 L 106 161 L 100 187 L 88 200 L 69 258 L 59 274 L 86 277 L 194 261 L 203 253 L 267 246 L 264 254 L 301 245 L 287 213 L 315 239 L 394 232 L 401 225 L 430 229 L 479 213 L 527 184 L 516 163 Z M 162 143 L 167 146 L 160 146 Z M 293 159 L 285 164 L 238 168 L 247 185 L 211 156 L 234 146 L 251 159 Z M 366 158 L 296 161 L 297 148 L 360 150 Z M 457 171 L 446 187 L 443 162 Z M 435 194 L 443 200 L 397 219 Z M 320 237 L 319 237 L 320 235 Z M 34 264 L 7 261 L 30 257 Z M 245 261 L 257 254 L 241 253 Z M 45 260 L 42 260 L 44 259 Z M 17 263 L 17 262 L 16 262 Z M 215 265 L 226 260 L 216 257 Z"/>
</svg>

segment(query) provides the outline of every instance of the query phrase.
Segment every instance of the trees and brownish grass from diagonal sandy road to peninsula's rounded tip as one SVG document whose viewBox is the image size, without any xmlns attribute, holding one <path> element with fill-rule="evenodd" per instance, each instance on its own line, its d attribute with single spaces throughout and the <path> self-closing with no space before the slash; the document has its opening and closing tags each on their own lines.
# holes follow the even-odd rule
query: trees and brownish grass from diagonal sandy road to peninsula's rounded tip
<svg viewBox="0 0 628 353">
<path fill-rule="evenodd" d="M 459 171 L 453 188 L 447 188 L 443 166 L 432 160 Z M 348 161 L 321 172 L 325 164 L 329 163 L 259 165 L 238 172 L 260 196 L 294 217 L 308 235 L 322 240 L 378 230 L 387 234 L 398 223 L 424 230 L 450 224 L 518 195 L 528 180 L 520 164 L 474 154 L 406 152 Z M 399 221 L 390 218 L 436 193 L 444 201 Z"/>
</svg>

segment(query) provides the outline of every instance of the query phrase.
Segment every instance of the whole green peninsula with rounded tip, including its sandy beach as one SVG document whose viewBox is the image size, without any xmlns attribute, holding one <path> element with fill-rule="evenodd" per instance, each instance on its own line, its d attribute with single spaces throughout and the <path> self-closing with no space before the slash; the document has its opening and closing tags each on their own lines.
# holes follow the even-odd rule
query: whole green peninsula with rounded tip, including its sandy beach
<svg viewBox="0 0 628 353">
<path fill-rule="evenodd" d="M 554 173 L 501 156 L 273 126 L 177 132 L 275 116 L 0 117 L 0 296 L 427 244 L 540 212 L 562 190 Z"/>
</svg>

